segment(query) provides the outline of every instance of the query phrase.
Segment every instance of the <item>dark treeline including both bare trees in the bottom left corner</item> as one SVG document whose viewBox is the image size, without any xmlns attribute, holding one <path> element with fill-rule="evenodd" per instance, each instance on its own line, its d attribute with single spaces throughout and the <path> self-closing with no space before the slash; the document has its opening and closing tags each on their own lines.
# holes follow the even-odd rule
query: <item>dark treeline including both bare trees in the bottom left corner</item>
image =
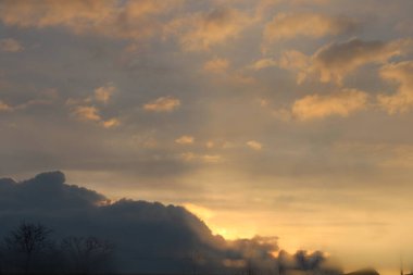
<svg viewBox="0 0 413 275">
<path fill-rule="evenodd" d="M 114 245 L 93 236 L 57 240 L 41 224 L 22 222 L 0 242 L 0 274 L 113 272 Z"/>
</svg>

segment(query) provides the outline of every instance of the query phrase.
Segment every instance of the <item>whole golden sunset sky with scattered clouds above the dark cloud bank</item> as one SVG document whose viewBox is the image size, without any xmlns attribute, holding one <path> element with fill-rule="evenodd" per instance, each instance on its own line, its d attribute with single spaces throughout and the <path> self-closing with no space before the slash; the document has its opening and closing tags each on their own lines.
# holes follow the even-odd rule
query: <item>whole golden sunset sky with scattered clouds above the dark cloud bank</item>
<svg viewBox="0 0 413 275">
<path fill-rule="evenodd" d="M 0 176 L 63 171 L 348 270 L 412 259 L 413 1 L 0 1 Z M 406 268 L 413 262 L 405 260 Z"/>
</svg>

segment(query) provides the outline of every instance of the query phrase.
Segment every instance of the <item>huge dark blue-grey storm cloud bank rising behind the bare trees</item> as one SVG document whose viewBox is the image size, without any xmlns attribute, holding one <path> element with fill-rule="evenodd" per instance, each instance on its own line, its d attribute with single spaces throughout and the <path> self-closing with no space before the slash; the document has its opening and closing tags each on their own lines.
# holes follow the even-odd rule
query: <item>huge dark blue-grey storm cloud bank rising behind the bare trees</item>
<svg viewBox="0 0 413 275">
<path fill-rule="evenodd" d="M 20 183 L 0 179 L 0 208 L 2 236 L 20 221 L 30 221 L 53 228 L 55 237 L 105 238 L 116 245 L 123 272 L 188 272 L 193 264 L 210 272 L 246 268 L 248 263 L 255 268 L 277 266 L 272 254 L 278 250 L 276 238 L 227 241 L 182 207 L 110 202 L 96 191 L 65 184 L 61 172 Z"/>
</svg>

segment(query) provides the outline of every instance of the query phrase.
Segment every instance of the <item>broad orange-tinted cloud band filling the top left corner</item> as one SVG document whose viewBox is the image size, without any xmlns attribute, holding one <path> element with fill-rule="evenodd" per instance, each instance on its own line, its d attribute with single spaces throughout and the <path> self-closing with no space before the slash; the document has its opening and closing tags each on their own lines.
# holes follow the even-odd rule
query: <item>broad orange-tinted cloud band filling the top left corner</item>
<svg viewBox="0 0 413 275">
<path fill-rule="evenodd" d="M 0 20 L 18 27 L 64 27 L 75 34 L 93 34 L 122 39 L 140 39 L 157 33 L 158 15 L 180 5 L 179 0 L 55 2 L 12 1 L 0 3 Z"/>
</svg>

